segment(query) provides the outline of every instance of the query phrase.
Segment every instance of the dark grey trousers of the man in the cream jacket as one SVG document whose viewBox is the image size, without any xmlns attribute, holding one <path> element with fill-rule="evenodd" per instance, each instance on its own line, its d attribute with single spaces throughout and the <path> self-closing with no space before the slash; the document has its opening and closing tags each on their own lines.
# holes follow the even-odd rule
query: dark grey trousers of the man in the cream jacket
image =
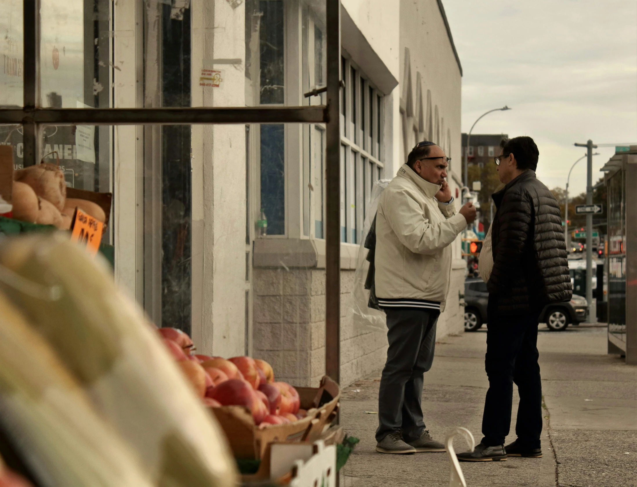
<svg viewBox="0 0 637 487">
<path fill-rule="evenodd" d="M 440 311 L 388 308 L 385 312 L 389 349 L 380 379 L 376 441 L 392 432 L 413 441 L 425 429 L 420 406 L 422 376 L 434 360 Z"/>
</svg>

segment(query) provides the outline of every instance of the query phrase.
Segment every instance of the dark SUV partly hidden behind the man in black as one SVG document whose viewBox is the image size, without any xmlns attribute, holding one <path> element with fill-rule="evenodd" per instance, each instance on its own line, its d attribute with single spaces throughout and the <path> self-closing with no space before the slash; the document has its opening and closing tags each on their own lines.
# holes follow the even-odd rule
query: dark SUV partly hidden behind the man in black
<svg viewBox="0 0 637 487">
<path fill-rule="evenodd" d="M 467 279 L 464 282 L 464 331 L 476 331 L 487 323 L 489 291 L 482 279 Z M 580 324 L 586 319 L 588 304 L 582 296 L 573 294 L 570 301 L 547 305 L 540 314 L 540 323 L 550 330 L 566 330 L 569 323 Z"/>
</svg>

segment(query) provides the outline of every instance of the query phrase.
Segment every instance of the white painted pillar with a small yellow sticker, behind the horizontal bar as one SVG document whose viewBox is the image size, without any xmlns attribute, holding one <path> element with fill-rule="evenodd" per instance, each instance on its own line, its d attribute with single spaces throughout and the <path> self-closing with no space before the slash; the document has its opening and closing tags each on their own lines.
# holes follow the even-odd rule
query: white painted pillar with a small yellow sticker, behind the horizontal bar
<svg viewBox="0 0 637 487">
<path fill-rule="evenodd" d="M 192 106 L 245 106 L 243 4 L 192 8 Z M 222 85 L 199 86 L 202 68 L 221 69 Z M 245 126 L 193 126 L 192 151 L 192 338 L 200 353 L 243 355 Z"/>
</svg>

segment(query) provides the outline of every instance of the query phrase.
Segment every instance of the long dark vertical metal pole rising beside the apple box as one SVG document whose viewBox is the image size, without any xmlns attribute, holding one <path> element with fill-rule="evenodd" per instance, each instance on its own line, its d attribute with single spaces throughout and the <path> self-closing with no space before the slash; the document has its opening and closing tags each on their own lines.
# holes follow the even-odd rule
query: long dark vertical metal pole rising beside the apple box
<svg viewBox="0 0 637 487">
<path fill-rule="evenodd" d="M 341 350 L 341 2 L 326 0 L 327 24 L 327 113 L 326 130 L 326 279 L 325 279 L 325 368 L 326 375 L 340 383 Z"/>
</svg>

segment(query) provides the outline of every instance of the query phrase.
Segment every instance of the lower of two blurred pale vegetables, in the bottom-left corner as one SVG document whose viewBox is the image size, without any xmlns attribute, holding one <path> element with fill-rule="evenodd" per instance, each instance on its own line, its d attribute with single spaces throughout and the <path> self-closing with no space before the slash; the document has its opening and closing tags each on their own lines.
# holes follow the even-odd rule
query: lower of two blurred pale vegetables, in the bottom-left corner
<svg viewBox="0 0 637 487">
<path fill-rule="evenodd" d="M 152 485 L 49 345 L 2 294 L 0 428 L 43 486 Z M 0 472 L 0 486 L 5 477 L 6 485 L 20 485 Z"/>
</svg>

